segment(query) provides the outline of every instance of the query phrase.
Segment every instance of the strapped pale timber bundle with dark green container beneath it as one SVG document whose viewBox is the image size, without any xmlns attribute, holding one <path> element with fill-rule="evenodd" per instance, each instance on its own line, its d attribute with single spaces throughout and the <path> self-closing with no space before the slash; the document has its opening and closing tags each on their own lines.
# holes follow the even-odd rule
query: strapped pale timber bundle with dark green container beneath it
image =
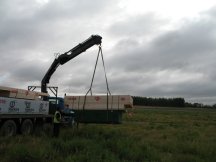
<svg viewBox="0 0 216 162">
<path fill-rule="evenodd" d="M 129 95 L 65 96 L 65 106 L 81 123 L 121 123 L 126 108 L 133 107 Z"/>
</svg>

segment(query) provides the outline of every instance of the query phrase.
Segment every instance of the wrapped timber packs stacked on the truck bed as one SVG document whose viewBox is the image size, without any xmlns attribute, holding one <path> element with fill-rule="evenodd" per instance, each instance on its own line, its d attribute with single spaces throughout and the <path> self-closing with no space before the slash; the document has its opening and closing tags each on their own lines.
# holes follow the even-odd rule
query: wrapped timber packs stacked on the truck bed
<svg viewBox="0 0 216 162">
<path fill-rule="evenodd" d="M 0 114 L 48 114 L 49 102 L 39 98 L 47 95 L 0 86 Z"/>
</svg>

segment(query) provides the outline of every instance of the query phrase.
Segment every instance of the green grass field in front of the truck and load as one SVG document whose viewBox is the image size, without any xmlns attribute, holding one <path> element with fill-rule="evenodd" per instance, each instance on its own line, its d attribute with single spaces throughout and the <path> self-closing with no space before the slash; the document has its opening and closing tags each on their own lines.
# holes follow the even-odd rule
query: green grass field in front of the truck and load
<svg viewBox="0 0 216 162">
<path fill-rule="evenodd" d="M 215 162 L 216 110 L 137 108 L 123 124 L 0 137 L 1 162 Z"/>
</svg>

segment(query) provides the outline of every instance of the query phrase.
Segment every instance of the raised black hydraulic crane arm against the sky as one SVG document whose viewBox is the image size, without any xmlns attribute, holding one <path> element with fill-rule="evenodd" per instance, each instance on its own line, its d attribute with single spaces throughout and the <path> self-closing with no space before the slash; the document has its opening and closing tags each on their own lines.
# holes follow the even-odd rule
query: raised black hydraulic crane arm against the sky
<svg viewBox="0 0 216 162">
<path fill-rule="evenodd" d="M 50 68 L 46 72 L 45 76 L 41 81 L 41 92 L 47 93 L 47 84 L 53 73 L 56 71 L 59 65 L 63 65 L 66 62 L 70 61 L 74 57 L 78 56 L 82 52 L 85 52 L 88 48 L 101 44 L 102 37 L 99 35 L 92 35 L 86 41 L 78 44 L 76 47 L 72 48 L 68 52 L 61 54 L 58 58 L 55 58 L 53 63 L 51 64 Z"/>
</svg>

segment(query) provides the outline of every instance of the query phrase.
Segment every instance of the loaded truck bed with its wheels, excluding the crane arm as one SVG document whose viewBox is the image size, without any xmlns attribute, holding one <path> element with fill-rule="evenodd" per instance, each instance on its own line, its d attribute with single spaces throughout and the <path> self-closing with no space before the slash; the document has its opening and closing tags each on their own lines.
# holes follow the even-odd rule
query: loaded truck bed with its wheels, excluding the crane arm
<svg viewBox="0 0 216 162">
<path fill-rule="evenodd" d="M 0 134 L 31 134 L 37 126 L 52 123 L 47 93 L 0 86 Z"/>
</svg>

